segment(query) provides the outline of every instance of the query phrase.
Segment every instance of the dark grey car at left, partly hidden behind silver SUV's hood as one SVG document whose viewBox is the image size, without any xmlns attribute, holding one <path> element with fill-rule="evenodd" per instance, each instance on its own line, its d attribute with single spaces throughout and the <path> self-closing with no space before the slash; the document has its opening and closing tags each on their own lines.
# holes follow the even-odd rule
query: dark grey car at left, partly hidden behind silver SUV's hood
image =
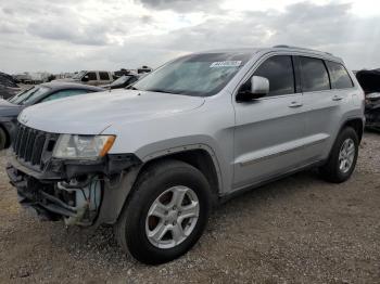
<svg viewBox="0 0 380 284">
<path fill-rule="evenodd" d="M 99 91 L 104 91 L 104 89 L 79 83 L 47 82 L 20 92 L 8 101 L 0 100 L 0 150 L 11 144 L 17 116 L 25 107 L 56 99 Z M 55 115 L 59 114 L 60 112 Z"/>
</svg>

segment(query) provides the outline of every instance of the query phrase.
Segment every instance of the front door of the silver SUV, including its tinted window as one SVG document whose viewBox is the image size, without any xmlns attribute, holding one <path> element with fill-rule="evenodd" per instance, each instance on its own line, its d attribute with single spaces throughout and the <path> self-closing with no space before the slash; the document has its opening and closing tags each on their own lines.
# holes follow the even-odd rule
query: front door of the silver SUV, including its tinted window
<svg viewBox="0 0 380 284">
<path fill-rule="evenodd" d="M 252 75 L 269 80 L 269 94 L 235 102 L 233 188 L 270 179 L 303 165 L 305 121 L 292 56 L 267 57 Z"/>
</svg>

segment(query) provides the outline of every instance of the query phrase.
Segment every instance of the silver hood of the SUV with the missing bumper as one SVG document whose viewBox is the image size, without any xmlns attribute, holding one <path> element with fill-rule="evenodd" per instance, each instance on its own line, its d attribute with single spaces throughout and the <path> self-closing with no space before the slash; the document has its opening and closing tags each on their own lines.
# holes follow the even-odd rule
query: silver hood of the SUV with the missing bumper
<svg viewBox="0 0 380 284">
<path fill-rule="evenodd" d="M 36 104 L 18 120 L 47 132 L 99 134 L 116 124 L 173 116 L 203 103 L 204 98 L 122 89 Z"/>
</svg>

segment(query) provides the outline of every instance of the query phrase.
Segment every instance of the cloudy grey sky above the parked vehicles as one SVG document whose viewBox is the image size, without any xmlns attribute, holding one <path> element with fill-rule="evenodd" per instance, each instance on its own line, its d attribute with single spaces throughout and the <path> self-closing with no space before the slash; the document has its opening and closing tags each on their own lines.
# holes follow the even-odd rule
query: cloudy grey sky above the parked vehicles
<svg viewBox="0 0 380 284">
<path fill-rule="evenodd" d="M 157 67 L 191 52 L 289 44 L 380 68 L 377 0 L 0 0 L 0 72 Z"/>
</svg>

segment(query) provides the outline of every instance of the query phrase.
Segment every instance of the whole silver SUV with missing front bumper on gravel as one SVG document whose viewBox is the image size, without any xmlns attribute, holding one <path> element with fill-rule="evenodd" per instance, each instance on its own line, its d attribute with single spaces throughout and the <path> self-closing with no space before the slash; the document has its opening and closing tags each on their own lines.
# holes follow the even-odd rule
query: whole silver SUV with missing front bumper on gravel
<svg viewBox="0 0 380 284">
<path fill-rule="evenodd" d="M 283 46 L 210 51 L 112 96 L 24 109 L 7 171 L 23 205 L 67 225 L 113 224 L 126 251 L 162 263 L 188 251 L 211 208 L 237 193 L 309 167 L 347 180 L 364 120 L 364 92 L 339 57 Z"/>
</svg>

